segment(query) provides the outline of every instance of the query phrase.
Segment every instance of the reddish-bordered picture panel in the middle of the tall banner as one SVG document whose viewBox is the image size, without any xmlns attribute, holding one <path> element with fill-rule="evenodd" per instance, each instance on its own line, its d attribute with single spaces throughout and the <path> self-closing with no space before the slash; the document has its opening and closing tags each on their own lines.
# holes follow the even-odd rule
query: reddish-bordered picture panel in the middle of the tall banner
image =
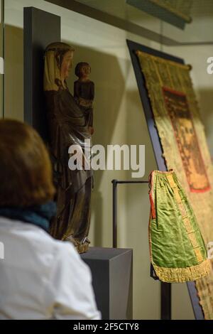
<svg viewBox="0 0 213 334">
<path fill-rule="evenodd" d="M 163 87 L 165 106 L 168 110 L 182 165 L 192 192 L 209 190 L 209 181 L 184 93 Z"/>
</svg>

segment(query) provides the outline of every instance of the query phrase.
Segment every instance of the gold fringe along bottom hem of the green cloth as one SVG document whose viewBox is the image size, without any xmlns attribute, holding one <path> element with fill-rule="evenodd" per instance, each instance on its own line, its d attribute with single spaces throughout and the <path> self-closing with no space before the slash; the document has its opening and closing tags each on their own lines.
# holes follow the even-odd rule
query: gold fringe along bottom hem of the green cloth
<svg viewBox="0 0 213 334">
<path fill-rule="evenodd" d="M 167 283 L 197 281 L 197 279 L 202 279 L 202 277 L 209 275 L 211 271 L 209 259 L 196 266 L 188 266 L 187 268 L 163 268 L 155 264 L 153 264 L 153 267 L 160 281 Z"/>
</svg>

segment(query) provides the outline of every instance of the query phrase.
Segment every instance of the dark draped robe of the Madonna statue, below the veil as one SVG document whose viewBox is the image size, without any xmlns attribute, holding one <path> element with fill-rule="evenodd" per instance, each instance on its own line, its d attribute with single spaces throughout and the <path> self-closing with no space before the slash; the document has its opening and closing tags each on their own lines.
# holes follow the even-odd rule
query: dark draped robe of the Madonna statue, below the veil
<svg viewBox="0 0 213 334">
<path fill-rule="evenodd" d="M 68 149 L 79 144 L 84 151 L 84 140 L 90 137 L 84 114 L 69 90 L 48 91 L 45 96 L 58 204 L 51 234 L 58 239 L 72 235 L 81 240 L 89 233 L 92 171 L 71 171 Z"/>
</svg>

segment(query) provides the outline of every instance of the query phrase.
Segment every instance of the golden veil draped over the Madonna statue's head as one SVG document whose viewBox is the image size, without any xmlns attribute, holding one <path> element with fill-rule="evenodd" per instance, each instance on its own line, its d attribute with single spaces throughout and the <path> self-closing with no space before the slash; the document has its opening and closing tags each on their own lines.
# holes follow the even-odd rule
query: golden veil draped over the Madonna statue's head
<svg viewBox="0 0 213 334">
<path fill-rule="evenodd" d="M 75 49 L 61 42 L 51 43 L 45 49 L 45 69 L 43 77 L 43 87 L 45 91 L 58 91 L 59 88 L 62 87 L 60 68 L 63 57 L 68 51 L 73 52 Z"/>
</svg>

